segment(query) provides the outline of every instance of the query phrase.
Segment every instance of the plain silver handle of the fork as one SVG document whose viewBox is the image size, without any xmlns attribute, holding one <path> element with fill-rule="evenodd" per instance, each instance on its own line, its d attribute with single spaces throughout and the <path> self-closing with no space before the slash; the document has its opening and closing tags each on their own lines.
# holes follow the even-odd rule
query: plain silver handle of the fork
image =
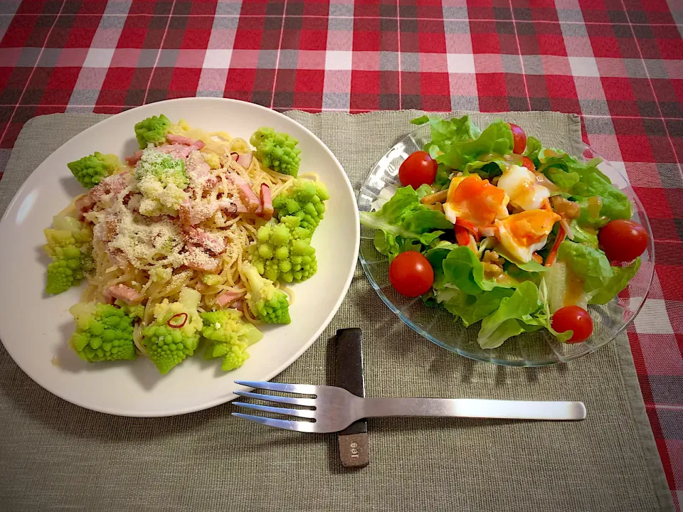
<svg viewBox="0 0 683 512">
<path fill-rule="evenodd" d="M 363 417 L 434 416 L 509 420 L 583 420 L 583 402 L 535 402 L 472 398 L 365 398 Z"/>
</svg>

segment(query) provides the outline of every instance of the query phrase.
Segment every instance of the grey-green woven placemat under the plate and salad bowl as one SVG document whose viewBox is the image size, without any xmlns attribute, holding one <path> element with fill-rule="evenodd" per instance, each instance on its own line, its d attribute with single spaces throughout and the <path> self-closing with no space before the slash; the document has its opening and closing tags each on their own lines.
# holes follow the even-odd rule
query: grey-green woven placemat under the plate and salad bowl
<svg viewBox="0 0 683 512">
<path fill-rule="evenodd" d="M 418 112 L 287 115 L 332 149 L 357 190 Z M 500 115 L 553 146 L 581 137 L 573 114 Z M 485 124 L 496 116 L 474 117 Z M 104 118 L 53 114 L 27 122 L 0 182 L 0 213 L 41 161 Z M 33 383 L 1 348 L 0 509 L 673 510 L 625 337 L 548 368 L 470 361 L 398 321 L 357 267 L 332 324 L 276 380 L 332 383 L 330 339 L 351 326 L 363 329 L 371 396 L 582 400 L 588 418 L 371 420 L 370 466 L 349 471 L 339 464 L 334 434 L 260 427 L 231 417 L 230 405 L 155 419 L 84 410 Z"/>
</svg>

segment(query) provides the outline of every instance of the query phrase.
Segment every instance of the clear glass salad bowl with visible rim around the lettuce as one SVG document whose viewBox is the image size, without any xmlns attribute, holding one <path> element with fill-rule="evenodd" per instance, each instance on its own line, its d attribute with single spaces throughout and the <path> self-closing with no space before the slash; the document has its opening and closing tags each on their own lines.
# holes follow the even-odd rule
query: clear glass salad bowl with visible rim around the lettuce
<svg viewBox="0 0 683 512">
<path fill-rule="evenodd" d="M 398 182 L 399 166 L 413 151 L 423 149 L 429 137 L 428 125 L 419 127 L 382 156 L 372 167 L 358 194 L 359 210 L 378 209 L 381 203 L 388 200 L 393 186 L 401 186 Z M 560 146 L 560 149 L 584 162 L 600 157 L 580 140 L 574 141 L 572 147 Z M 588 306 L 588 312 L 593 318 L 593 334 L 582 343 L 561 343 L 549 331 L 541 329 L 509 338 L 497 348 L 481 348 L 477 343 L 481 322 L 466 328 L 460 319 L 455 319 L 443 307 L 426 305 L 421 297 L 404 297 L 393 289 L 388 279 L 388 259 L 374 245 L 375 230 L 363 225 L 359 252 L 361 265 L 379 297 L 398 318 L 429 341 L 461 356 L 504 366 L 546 366 L 586 356 L 625 332 L 645 303 L 655 272 L 652 230 L 642 204 L 627 178 L 615 166 L 603 159 L 598 169 L 628 196 L 632 203 L 632 220 L 642 224 L 647 230 L 649 242 L 647 250 L 641 256 L 640 270 L 628 287 L 608 304 Z"/>
</svg>

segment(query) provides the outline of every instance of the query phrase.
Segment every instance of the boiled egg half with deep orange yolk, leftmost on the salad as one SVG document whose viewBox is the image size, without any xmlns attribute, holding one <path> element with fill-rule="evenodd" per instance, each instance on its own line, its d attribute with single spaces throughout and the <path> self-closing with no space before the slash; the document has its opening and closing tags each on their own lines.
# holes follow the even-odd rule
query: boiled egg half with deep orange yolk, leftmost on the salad
<svg viewBox="0 0 683 512">
<path fill-rule="evenodd" d="M 450 181 L 443 213 L 453 224 L 460 217 L 475 225 L 490 225 L 496 218 L 507 217 L 508 201 L 502 189 L 477 174 L 456 176 Z"/>
</svg>

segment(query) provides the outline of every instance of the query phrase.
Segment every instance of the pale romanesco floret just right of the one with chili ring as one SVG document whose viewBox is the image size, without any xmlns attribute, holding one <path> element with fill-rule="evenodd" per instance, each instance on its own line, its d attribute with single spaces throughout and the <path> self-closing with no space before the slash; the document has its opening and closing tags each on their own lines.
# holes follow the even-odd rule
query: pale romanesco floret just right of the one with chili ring
<svg viewBox="0 0 683 512">
<path fill-rule="evenodd" d="M 234 370 L 249 358 L 247 347 L 263 338 L 261 331 L 242 319 L 238 309 L 221 309 L 200 314 L 204 322 L 201 334 L 211 344 L 206 347 L 204 357 L 223 358 L 221 368 Z"/>
</svg>

